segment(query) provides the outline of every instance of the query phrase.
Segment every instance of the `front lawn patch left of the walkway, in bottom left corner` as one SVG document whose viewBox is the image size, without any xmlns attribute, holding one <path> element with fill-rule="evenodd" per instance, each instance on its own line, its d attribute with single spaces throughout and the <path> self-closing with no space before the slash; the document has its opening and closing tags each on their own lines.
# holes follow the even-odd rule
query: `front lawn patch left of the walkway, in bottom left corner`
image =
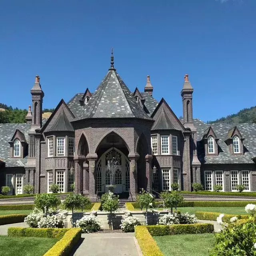
<svg viewBox="0 0 256 256">
<path fill-rule="evenodd" d="M 57 241 L 56 238 L 0 236 L 0 256 L 41 256 Z"/>
</svg>

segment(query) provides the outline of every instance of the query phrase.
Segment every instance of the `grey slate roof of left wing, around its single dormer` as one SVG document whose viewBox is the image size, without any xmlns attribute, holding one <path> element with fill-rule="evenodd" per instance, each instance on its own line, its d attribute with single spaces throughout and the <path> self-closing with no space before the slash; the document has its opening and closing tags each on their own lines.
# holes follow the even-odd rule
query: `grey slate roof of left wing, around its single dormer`
<svg viewBox="0 0 256 256">
<path fill-rule="evenodd" d="M 28 132 L 31 124 L 0 124 L 0 158 L 6 163 L 6 167 L 24 166 L 27 162 L 25 158 L 10 158 L 10 144 L 8 143 L 14 135 L 16 129 L 20 130 L 29 141 Z"/>
</svg>

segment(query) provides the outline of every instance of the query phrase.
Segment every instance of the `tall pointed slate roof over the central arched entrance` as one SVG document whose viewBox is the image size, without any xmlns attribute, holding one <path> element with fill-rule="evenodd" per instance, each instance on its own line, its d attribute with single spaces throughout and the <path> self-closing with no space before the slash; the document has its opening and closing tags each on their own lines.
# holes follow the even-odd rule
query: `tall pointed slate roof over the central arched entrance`
<svg viewBox="0 0 256 256">
<path fill-rule="evenodd" d="M 152 120 L 136 102 L 115 70 L 108 71 L 88 104 L 74 110 L 76 111 L 74 113 L 75 120 L 85 118 L 142 118 Z"/>
</svg>

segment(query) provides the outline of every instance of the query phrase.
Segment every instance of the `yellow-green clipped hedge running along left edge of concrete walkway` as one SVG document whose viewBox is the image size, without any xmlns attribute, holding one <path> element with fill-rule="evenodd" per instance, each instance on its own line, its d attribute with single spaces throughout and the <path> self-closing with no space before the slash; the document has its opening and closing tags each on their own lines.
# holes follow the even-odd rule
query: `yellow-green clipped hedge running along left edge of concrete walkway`
<svg viewBox="0 0 256 256">
<path fill-rule="evenodd" d="M 74 246 L 78 243 L 81 239 L 81 228 L 70 228 L 62 239 L 60 239 L 44 256 L 68 256 Z"/>
</svg>

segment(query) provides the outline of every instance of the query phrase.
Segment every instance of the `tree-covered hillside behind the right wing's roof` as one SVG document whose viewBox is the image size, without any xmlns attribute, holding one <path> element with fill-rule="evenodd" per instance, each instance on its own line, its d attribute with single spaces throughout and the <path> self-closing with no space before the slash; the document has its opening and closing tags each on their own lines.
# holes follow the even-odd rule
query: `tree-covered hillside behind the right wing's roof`
<svg viewBox="0 0 256 256">
<path fill-rule="evenodd" d="M 209 124 L 226 123 L 226 124 L 240 124 L 240 123 L 256 123 L 256 106 L 251 108 L 244 108 L 236 114 L 216 119 L 215 121 L 208 121 Z"/>
</svg>

